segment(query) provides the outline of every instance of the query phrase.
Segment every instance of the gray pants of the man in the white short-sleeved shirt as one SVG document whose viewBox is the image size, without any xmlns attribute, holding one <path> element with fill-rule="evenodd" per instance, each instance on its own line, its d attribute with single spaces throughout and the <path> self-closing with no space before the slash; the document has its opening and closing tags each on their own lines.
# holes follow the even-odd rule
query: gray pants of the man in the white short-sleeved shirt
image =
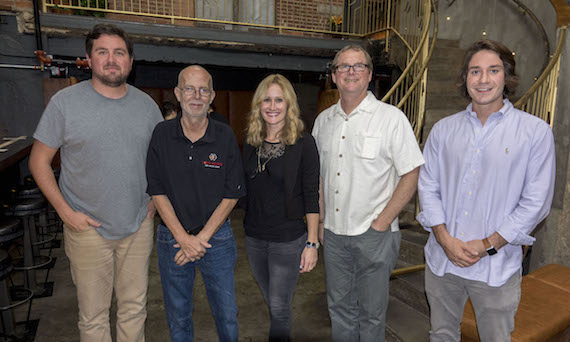
<svg viewBox="0 0 570 342">
<path fill-rule="evenodd" d="M 400 232 L 372 228 L 358 236 L 325 229 L 327 300 L 332 340 L 384 341 L 388 283 L 400 250 Z"/>
</svg>

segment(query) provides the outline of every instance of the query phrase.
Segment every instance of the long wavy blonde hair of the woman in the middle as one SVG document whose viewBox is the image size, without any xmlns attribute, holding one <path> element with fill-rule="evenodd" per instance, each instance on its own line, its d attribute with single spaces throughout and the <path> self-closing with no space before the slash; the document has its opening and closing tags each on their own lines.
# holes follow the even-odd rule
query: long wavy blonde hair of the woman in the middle
<svg viewBox="0 0 570 342">
<path fill-rule="evenodd" d="M 267 89 L 273 84 L 281 87 L 283 98 L 287 104 L 285 126 L 281 130 L 279 140 L 285 145 L 293 145 L 301 137 L 301 132 L 305 128 L 300 116 L 297 94 L 295 94 L 291 82 L 280 74 L 269 75 L 259 83 L 251 100 L 251 111 L 249 112 L 246 129 L 246 142 L 253 147 L 261 146 L 267 137 L 266 125 L 261 116 L 260 106 L 263 99 L 265 99 Z"/>
</svg>

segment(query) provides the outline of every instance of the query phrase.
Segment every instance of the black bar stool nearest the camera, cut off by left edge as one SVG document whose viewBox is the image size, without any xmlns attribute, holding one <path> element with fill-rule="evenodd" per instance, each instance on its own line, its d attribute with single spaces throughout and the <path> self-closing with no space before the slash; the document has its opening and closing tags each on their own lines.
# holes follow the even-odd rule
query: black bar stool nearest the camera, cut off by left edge
<svg viewBox="0 0 570 342">
<path fill-rule="evenodd" d="M 22 236 L 21 223 L 13 218 L 0 218 L 0 246 L 6 247 L 11 241 Z M 16 335 L 16 322 L 12 309 L 29 302 L 25 324 L 30 322 L 33 291 L 27 288 L 10 289 L 7 278 L 14 269 L 10 255 L 0 249 L 0 320 L 1 336 L 9 340 L 18 340 Z M 12 291 L 10 291 L 12 290 Z M 37 324 L 36 324 L 37 325 Z M 29 329 L 24 329 L 24 331 Z M 34 334 L 35 335 L 35 334 Z"/>
</svg>

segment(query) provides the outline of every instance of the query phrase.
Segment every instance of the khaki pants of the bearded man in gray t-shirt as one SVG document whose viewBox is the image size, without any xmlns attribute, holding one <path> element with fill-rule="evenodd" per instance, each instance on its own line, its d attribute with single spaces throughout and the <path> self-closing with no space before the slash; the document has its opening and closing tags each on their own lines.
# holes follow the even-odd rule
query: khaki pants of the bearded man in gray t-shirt
<svg viewBox="0 0 570 342">
<path fill-rule="evenodd" d="M 138 232 L 107 240 L 95 229 L 74 232 L 64 225 L 65 253 L 77 287 L 82 342 L 111 342 L 109 308 L 117 298 L 117 341 L 144 341 L 148 265 L 153 222 L 146 217 Z"/>
</svg>

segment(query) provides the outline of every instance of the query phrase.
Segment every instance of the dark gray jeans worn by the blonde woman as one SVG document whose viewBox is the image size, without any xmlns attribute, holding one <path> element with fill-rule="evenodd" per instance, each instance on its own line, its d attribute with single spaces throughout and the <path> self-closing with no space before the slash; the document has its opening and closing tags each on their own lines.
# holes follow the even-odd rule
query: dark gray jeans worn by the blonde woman
<svg viewBox="0 0 570 342">
<path fill-rule="evenodd" d="M 289 341 L 291 303 L 306 241 L 306 233 L 288 242 L 265 241 L 250 236 L 245 238 L 249 264 L 269 306 L 270 341 Z"/>
</svg>

